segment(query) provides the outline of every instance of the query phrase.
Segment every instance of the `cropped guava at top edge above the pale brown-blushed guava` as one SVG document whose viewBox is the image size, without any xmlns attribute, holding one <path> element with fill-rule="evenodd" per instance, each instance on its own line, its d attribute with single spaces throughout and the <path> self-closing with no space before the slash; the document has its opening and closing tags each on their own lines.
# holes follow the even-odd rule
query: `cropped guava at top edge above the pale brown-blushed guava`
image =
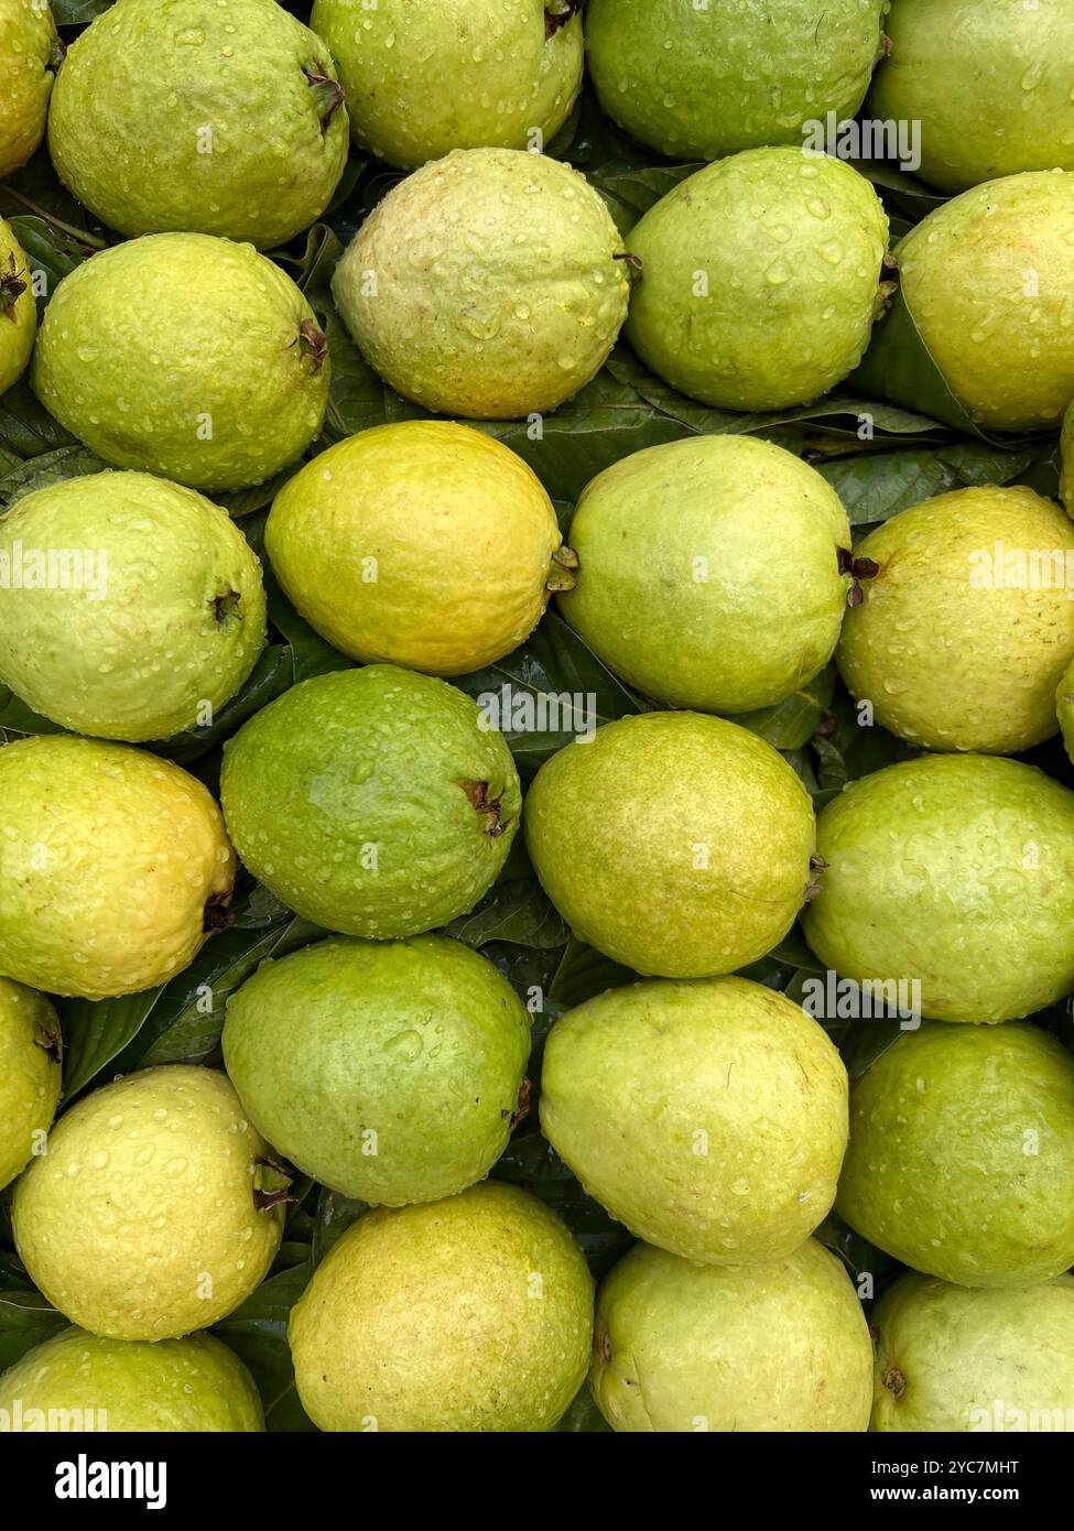
<svg viewBox="0 0 1074 1531">
<path fill-rule="evenodd" d="M 316 0 L 355 145 L 401 170 L 452 149 L 542 149 L 582 84 L 582 18 L 545 0 Z M 555 31 L 552 28 L 555 26 Z M 536 138 L 536 145 L 533 139 Z"/>
</svg>

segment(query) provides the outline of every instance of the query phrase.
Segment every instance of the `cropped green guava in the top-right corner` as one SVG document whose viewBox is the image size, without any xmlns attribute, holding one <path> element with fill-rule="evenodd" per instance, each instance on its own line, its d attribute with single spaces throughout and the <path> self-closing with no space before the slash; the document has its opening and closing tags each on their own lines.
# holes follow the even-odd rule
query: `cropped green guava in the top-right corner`
<svg viewBox="0 0 1074 1531">
<path fill-rule="evenodd" d="M 921 122 L 922 181 L 953 193 L 1020 170 L 1074 170 L 1066 0 L 893 0 L 884 31 L 892 47 L 867 115 Z"/>
</svg>

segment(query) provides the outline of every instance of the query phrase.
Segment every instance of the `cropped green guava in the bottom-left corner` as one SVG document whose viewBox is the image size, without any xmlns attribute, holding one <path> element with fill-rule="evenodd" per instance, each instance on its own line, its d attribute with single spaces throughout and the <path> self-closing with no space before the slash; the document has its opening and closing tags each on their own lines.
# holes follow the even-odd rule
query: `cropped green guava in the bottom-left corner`
<svg viewBox="0 0 1074 1531">
<path fill-rule="evenodd" d="M 254 1379 L 213 1335 L 98 1340 L 63 1329 L 0 1376 L 0 1415 L 21 1430 L 257 1431 Z"/>
</svg>

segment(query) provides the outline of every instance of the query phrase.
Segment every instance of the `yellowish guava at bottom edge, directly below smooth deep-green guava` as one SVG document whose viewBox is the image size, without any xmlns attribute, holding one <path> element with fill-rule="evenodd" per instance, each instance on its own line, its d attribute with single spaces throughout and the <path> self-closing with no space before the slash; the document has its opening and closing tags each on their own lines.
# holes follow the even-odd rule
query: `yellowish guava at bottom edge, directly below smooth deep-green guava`
<svg viewBox="0 0 1074 1531">
<path fill-rule="evenodd" d="M 331 1431 L 542 1431 L 585 1379 L 593 1281 L 542 1202 L 487 1180 L 366 1213 L 314 1271 L 288 1340 Z"/>
</svg>

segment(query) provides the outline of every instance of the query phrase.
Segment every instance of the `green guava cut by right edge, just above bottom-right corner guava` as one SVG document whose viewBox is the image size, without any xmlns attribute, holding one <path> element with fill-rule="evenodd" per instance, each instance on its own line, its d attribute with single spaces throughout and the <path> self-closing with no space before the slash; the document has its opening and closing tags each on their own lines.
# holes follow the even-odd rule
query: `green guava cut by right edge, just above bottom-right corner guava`
<svg viewBox="0 0 1074 1531">
<path fill-rule="evenodd" d="M 961 1286 L 1074 1265 L 1074 1059 L 1028 1021 L 904 1032 L 850 1092 L 837 1209 Z"/>
</svg>

